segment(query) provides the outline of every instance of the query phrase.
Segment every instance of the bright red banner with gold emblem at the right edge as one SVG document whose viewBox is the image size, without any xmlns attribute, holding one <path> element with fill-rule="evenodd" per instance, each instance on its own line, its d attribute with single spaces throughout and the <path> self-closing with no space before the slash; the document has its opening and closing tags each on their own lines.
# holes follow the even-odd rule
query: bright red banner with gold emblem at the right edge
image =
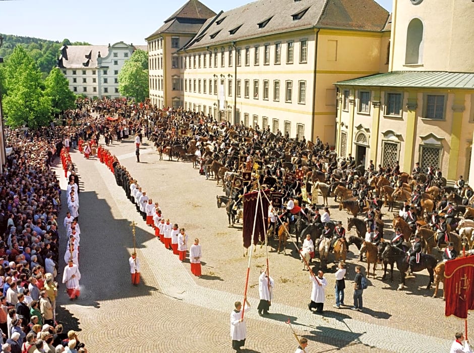
<svg viewBox="0 0 474 353">
<path fill-rule="evenodd" d="M 444 315 L 466 319 L 467 311 L 474 310 L 474 256 L 447 261 L 444 277 Z"/>
</svg>

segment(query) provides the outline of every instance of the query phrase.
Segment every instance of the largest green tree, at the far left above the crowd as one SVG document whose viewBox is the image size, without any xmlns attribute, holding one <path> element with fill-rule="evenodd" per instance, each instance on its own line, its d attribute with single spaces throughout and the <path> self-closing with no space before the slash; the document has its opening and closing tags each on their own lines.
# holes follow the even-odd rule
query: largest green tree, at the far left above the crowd
<svg viewBox="0 0 474 353">
<path fill-rule="evenodd" d="M 41 72 L 21 45 L 17 45 L 2 68 L 7 125 L 36 128 L 49 122 L 50 99 L 44 95 Z"/>
</svg>

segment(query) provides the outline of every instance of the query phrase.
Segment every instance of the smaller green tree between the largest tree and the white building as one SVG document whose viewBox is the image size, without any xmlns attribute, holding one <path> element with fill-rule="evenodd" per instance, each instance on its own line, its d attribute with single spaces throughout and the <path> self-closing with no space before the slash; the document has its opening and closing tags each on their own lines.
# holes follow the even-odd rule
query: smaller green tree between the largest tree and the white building
<svg viewBox="0 0 474 353">
<path fill-rule="evenodd" d="M 60 69 L 53 68 L 44 83 L 46 86 L 44 94 L 50 99 L 51 113 L 59 114 L 75 107 L 76 97 L 69 89 L 68 79 Z"/>
</svg>

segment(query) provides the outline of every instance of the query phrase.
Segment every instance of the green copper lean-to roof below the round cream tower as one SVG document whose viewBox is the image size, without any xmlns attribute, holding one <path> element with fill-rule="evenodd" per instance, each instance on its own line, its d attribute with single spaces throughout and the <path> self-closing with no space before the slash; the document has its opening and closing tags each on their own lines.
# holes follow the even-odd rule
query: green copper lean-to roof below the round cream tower
<svg viewBox="0 0 474 353">
<path fill-rule="evenodd" d="M 444 71 L 393 71 L 347 81 L 336 85 L 377 87 L 422 87 L 474 89 L 474 73 Z"/>
</svg>

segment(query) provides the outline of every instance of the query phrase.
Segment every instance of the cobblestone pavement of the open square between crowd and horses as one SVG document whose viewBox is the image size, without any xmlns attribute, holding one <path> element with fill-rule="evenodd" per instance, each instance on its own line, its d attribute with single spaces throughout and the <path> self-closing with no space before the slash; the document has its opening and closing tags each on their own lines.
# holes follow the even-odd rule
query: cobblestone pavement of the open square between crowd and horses
<svg viewBox="0 0 474 353">
<path fill-rule="evenodd" d="M 215 195 L 222 194 L 222 188 L 216 187 L 215 181 L 199 176 L 191 163 L 158 161 L 146 138 L 144 142 L 142 163 L 136 163 L 131 140 L 115 142 L 109 149 L 153 201 L 160 203 L 165 217 L 184 226 L 190 240 L 200 238 L 203 276 L 192 276 L 189 263 L 181 263 L 155 239 L 104 165 L 74 153 L 83 190 L 83 289 L 77 301 L 69 301 L 62 293 L 58 299 L 60 315 L 70 326 L 78 325 L 80 338 L 90 351 L 231 351 L 229 313 L 233 302 L 243 298 L 248 266 L 248 258 L 243 257 L 242 230 L 239 226 L 227 228 L 225 211 L 216 208 Z M 66 184 L 64 178 L 62 182 Z M 346 223 L 345 212 L 333 207 L 331 216 Z M 130 284 L 128 266 L 133 247 L 132 220 L 139 224 L 137 253 L 142 283 L 138 287 Z M 444 302 L 431 298 L 432 290 L 422 288 L 427 273 L 408 279 L 405 290 L 396 291 L 397 271 L 395 281 L 390 283 L 380 280 L 379 269 L 378 278 L 370 279 L 372 285 L 364 293 L 363 313 L 349 307 L 333 309 L 332 263 L 325 275 L 329 281 L 325 313 L 312 314 L 306 307 L 311 293 L 309 275 L 301 271 L 294 246 L 288 245 L 286 256 L 276 254 L 272 246 L 268 250 L 270 274 L 276 282 L 275 298 L 271 314 L 259 317 L 255 310 L 258 274 L 266 259 L 265 246 L 258 246 L 249 280 L 253 310 L 246 313 L 249 352 L 294 351 L 296 340 L 284 323 L 288 318 L 299 335 L 310 339 L 311 352 L 441 352 L 449 349 L 453 333 L 463 328 L 463 321 L 444 317 Z M 351 304 L 353 264 L 359 263 L 357 248 L 351 246 L 350 250 L 354 254 L 349 253 L 347 260 L 346 304 Z M 469 320 L 469 325 L 473 323 Z"/>
</svg>

